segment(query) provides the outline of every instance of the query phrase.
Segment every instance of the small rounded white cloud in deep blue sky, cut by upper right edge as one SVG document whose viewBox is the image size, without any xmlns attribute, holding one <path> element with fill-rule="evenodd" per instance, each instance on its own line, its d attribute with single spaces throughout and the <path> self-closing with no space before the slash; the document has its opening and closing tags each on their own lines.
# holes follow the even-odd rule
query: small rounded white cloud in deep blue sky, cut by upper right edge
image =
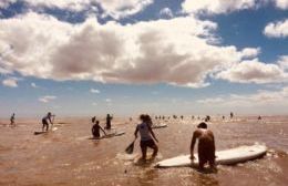
<svg viewBox="0 0 288 186">
<path fill-rule="evenodd" d="M 268 23 L 263 33 L 269 38 L 287 38 L 288 37 L 288 19 L 284 21 Z"/>
</svg>

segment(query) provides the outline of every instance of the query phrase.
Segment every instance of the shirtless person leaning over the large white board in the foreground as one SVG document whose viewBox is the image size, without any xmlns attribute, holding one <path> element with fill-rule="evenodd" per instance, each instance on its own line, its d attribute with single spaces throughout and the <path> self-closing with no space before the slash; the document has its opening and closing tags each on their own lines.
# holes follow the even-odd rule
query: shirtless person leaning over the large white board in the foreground
<svg viewBox="0 0 288 186">
<path fill-rule="evenodd" d="M 197 125 L 197 130 L 193 133 L 191 142 L 191 159 L 194 159 L 194 146 L 198 138 L 198 159 L 199 169 L 204 169 L 204 165 L 208 162 L 210 168 L 215 168 L 215 141 L 213 132 L 207 130 L 207 124 L 202 122 Z"/>
</svg>

